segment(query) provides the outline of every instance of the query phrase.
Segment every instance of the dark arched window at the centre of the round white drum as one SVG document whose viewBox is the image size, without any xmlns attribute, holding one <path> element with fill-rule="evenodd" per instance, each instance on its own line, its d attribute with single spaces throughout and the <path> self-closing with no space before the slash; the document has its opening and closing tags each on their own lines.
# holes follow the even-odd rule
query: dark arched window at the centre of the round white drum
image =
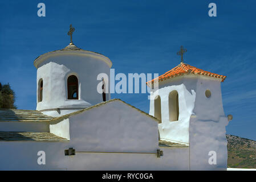
<svg viewBox="0 0 256 182">
<path fill-rule="evenodd" d="M 67 98 L 78 99 L 78 78 L 75 75 L 67 78 Z"/>
</svg>

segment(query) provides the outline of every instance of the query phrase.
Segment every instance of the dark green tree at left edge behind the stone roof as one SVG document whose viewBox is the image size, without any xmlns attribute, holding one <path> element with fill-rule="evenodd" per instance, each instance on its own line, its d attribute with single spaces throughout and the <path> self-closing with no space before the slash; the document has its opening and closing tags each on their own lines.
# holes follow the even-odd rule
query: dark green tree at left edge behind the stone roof
<svg viewBox="0 0 256 182">
<path fill-rule="evenodd" d="M 17 109 L 14 102 L 15 93 L 9 83 L 2 85 L 0 82 L 0 109 Z"/>
</svg>

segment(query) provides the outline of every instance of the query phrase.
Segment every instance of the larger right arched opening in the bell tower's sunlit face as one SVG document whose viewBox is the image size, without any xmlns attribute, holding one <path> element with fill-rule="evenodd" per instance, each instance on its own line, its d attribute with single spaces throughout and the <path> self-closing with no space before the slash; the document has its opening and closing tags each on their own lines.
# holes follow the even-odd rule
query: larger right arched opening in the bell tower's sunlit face
<svg viewBox="0 0 256 182">
<path fill-rule="evenodd" d="M 178 115 L 180 111 L 178 109 L 178 92 L 173 90 L 169 93 L 169 120 L 178 121 Z"/>
</svg>

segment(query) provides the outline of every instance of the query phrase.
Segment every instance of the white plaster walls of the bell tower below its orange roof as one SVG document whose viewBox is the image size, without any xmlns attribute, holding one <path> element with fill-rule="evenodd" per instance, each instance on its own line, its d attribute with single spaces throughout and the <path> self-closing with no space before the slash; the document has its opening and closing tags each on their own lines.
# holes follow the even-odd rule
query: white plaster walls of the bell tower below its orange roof
<svg viewBox="0 0 256 182">
<path fill-rule="evenodd" d="M 226 169 L 227 166 L 227 117 L 224 114 L 220 79 L 206 76 L 185 75 L 159 83 L 162 123 L 159 124 L 162 140 L 186 143 L 190 146 L 190 169 Z M 212 96 L 207 98 L 205 91 Z M 177 90 L 180 116 L 169 121 L 169 93 Z M 155 95 L 154 95 L 155 97 Z M 149 114 L 154 114 L 151 100 Z M 210 165 L 208 155 L 216 151 L 217 164 Z"/>
</svg>

